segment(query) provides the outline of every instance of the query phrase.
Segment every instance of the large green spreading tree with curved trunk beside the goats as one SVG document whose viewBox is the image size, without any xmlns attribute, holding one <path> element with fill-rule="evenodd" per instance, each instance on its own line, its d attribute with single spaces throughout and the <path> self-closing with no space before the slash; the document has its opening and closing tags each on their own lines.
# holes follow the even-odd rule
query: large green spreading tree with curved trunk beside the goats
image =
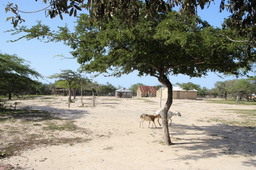
<svg viewBox="0 0 256 170">
<path fill-rule="evenodd" d="M 74 49 L 71 54 L 82 64 L 87 72 L 109 73 L 115 77 L 129 74 L 135 70 L 138 75 L 151 75 L 168 89 L 168 97 L 163 109 L 163 133 L 166 145 L 171 144 L 167 125 L 167 111 L 172 105 L 172 83 L 170 75 L 186 74 L 189 77 L 204 77 L 207 72 L 246 74 L 251 70 L 249 61 L 253 49 L 244 53 L 244 43 L 233 42 L 234 32 L 211 27 L 197 16 L 180 15 L 172 11 L 159 12 L 146 16 L 146 4 L 140 4 L 140 24 L 127 29 L 123 15 L 113 16 L 113 21 L 89 22 L 89 15 L 81 14 L 74 33 L 68 28 L 58 32 L 38 23 L 33 29 L 22 28 L 28 32 L 26 38 L 47 37 L 50 41 L 63 40 Z M 146 16 L 146 17 L 145 17 Z M 184 19 L 186 18 L 186 19 Z M 36 34 L 37 31 L 41 31 Z M 245 69 L 239 70 L 241 67 Z"/>
</svg>

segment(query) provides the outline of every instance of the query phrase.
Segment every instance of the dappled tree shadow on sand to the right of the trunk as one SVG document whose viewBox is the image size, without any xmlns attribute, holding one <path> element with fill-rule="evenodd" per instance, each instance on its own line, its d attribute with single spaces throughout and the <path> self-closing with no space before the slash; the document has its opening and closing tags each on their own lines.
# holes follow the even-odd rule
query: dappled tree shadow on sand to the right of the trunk
<svg viewBox="0 0 256 170">
<path fill-rule="evenodd" d="M 173 124 L 170 135 L 178 137 L 173 140 L 177 149 L 188 150 L 190 154 L 182 159 L 202 159 L 219 156 L 255 157 L 255 128 L 217 124 L 195 126 Z M 244 161 L 245 166 L 256 167 L 255 162 Z"/>
</svg>

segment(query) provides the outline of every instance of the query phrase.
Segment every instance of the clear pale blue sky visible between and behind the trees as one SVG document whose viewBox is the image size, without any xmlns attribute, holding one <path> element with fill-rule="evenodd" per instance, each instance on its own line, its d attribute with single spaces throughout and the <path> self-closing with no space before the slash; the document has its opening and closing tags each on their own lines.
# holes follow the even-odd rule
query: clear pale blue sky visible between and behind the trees
<svg viewBox="0 0 256 170">
<path fill-rule="evenodd" d="M 35 2 L 33 1 L 20 1 L 20 0 L 9 0 L 14 4 L 17 4 L 21 11 L 31 12 L 37 11 L 44 8 L 45 4 L 42 4 L 42 1 Z M 198 10 L 198 15 L 201 16 L 203 20 L 206 20 L 214 27 L 221 28 L 221 22 L 223 22 L 223 18 L 227 18 L 230 14 L 228 12 L 219 13 L 219 2 L 215 1 L 215 5 L 211 4 L 211 6 L 205 10 Z M 8 1 L 1 0 L 1 5 L 8 4 Z M 8 12 L 5 13 L 5 6 L 2 5 L 0 8 L 0 50 L 2 53 L 6 54 L 17 54 L 19 57 L 27 60 L 30 62 L 30 67 L 35 69 L 38 73 L 42 74 L 44 77 L 49 75 L 60 73 L 60 70 L 73 70 L 76 71 L 79 68 L 79 64 L 76 63 L 76 59 L 64 59 L 62 60 L 61 57 L 54 57 L 56 55 L 63 55 L 66 57 L 71 57 L 70 51 L 71 49 L 63 45 L 62 43 L 43 43 L 37 39 L 33 40 L 26 40 L 22 39 L 15 43 L 6 43 L 7 40 L 14 40 L 18 39 L 22 36 L 19 35 L 11 35 L 11 32 L 4 32 L 6 30 L 13 29 L 13 25 L 11 24 L 11 20 L 6 22 L 6 18 L 13 16 L 13 13 Z M 87 12 L 87 11 L 83 11 Z M 63 27 L 65 23 L 68 24 L 70 30 L 73 30 L 75 27 L 76 18 L 74 16 L 63 15 L 63 21 L 57 16 L 57 18 L 50 19 L 49 17 L 45 17 L 45 13 L 38 12 L 33 14 L 23 14 L 20 13 L 23 19 L 26 21 L 21 23 L 20 25 L 26 25 L 28 28 L 31 25 L 36 25 L 37 20 L 42 20 L 42 24 L 49 25 L 52 30 L 58 30 L 57 26 Z M 24 34 L 23 34 L 24 35 Z M 90 77 L 90 75 L 86 75 Z M 218 75 L 214 73 L 209 73 L 209 75 L 205 78 L 189 78 L 186 75 L 178 75 L 177 77 L 170 76 L 170 81 L 172 84 L 175 83 L 186 83 L 192 82 L 195 84 L 199 84 L 202 87 L 206 87 L 211 89 L 214 87 L 214 83 L 217 81 L 225 81 L 229 79 L 235 79 L 234 77 L 228 77 L 225 79 L 221 79 Z M 39 80 L 43 83 L 50 83 L 54 82 L 51 79 L 44 79 Z M 100 75 L 97 78 L 94 78 L 93 81 L 97 81 L 100 84 L 106 84 L 106 82 L 110 82 L 113 86 L 122 86 L 129 88 L 132 84 L 136 83 L 143 83 L 147 86 L 156 86 L 161 84 L 155 77 L 138 77 L 137 72 L 133 72 L 129 75 L 123 75 L 121 78 L 114 78 L 114 77 L 103 77 Z"/>
</svg>

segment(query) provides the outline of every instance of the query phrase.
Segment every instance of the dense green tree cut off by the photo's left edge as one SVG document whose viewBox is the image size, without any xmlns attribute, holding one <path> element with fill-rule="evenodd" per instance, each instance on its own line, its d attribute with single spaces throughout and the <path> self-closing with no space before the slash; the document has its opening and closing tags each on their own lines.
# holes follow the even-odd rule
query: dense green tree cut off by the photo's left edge
<svg viewBox="0 0 256 170">
<path fill-rule="evenodd" d="M 0 90 L 9 94 L 17 94 L 24 91 L 32 91 L 33 87 L 39 86 L 39 82 L 31 78 L 43 78 L 41 74 L 30 69 L 28 61 L 16 55 L 0 53 Z"/>
</svg>

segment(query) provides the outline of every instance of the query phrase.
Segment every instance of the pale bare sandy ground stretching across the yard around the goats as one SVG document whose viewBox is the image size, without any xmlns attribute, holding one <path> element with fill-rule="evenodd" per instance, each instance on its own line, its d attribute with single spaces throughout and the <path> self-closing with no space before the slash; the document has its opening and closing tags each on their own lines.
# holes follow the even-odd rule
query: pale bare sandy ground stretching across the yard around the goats
<svg viewBox="0 0 256 170">
<path fill-rule="evenodd" d="M 174 145 L 165 146 L 162 127 L 139 128 L 141 114 L 163 109 L 159 98 L 116 99 L 80 97 L 67 107 L 67 97 L 22 100 L 20 107 L 41 109 L 75 121 L 91 133 L 79 133 L 91 141 L 75 145 L 37 147 L 0 162 L 20 169 L 256 169 L 255 129 L 229 126 L 213 118 L 239 120 L 228 109 L 256 109 L 255 106 L 212 104 L 206 100 L 173 100 L 170 111 L 179 111 L 169 126 Z M 153 102 L 148 102 L 148 101 Z M 44 100 L 45 101 L 45 100 Z M 53 102 L 54 101 L 54 102 Z M 58 102 L 57 102 L 58 101 Z M 162 124 L 162 121 L 161 121 Z M 63 132 L 69 136 L 69 132 Z M 78 134 L 77 134 L 78 135 Z M 0 167 L 1 169 L 1 167 Z"/>
</svg>

